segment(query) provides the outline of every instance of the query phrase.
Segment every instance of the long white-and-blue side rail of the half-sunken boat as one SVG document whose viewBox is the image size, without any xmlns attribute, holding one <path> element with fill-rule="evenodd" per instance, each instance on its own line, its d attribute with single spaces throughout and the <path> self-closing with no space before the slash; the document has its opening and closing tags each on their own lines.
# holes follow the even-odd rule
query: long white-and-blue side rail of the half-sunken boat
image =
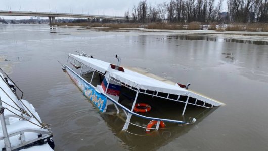
<svg viewBox="0 0 268 151">
<path fill-rule="evenodd" d="M 79 74 L 77 74 L 76 72 L 74 72 L 71 68 L 69 68 L 67 65 L 64 65 L 65 67 L 67 67 L 70 71 L 72 71 L 75 75 L 77 75 L 77 77 L 79 77 L 81 80 L 83 80 L 85 83 L 87 83 L 88 85 L 92 86 L 94 89 L 96 89 L 95 86 L 93 86 L 91 83 L 88 83 L 84 78 L 82 78 Z M 155 118 L 155 117 L 147 117 L 147 116 L 143 116 L 140 114 L 137 114 L 135 112 L 130 111 L 128 108 L 124 107 L 123 105 L 121 105 L 120 103 L 116 102 L 114 99 L 112 99 L 111 97 L 109 97 L 108 95 L 101 93 L 102 95 L 105 95 L 110 101 L 112 101 L 114 104 L 120 106 L 123 110 L 125 110 L 126 112 L 135 115 L 137 117 L 141 117 L 144 119 L 148 119 L 148 120 L 157 120 L 157 121 L 164 121 L 164 122 L 171 122 L 171 123 L 177 123 L 177 124 L 186 124 L 188 122 L 185 121 L 178 121 L 178 120 L 171 120 L 171 119 L 163 119 L 163 118 Z"/>
</svg>

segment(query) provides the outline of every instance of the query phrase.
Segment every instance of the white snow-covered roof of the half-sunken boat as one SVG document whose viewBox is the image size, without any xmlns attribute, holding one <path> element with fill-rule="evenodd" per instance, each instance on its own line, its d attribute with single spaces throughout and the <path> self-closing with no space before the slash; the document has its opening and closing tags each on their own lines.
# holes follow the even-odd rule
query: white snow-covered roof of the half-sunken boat
<svg viewBox="0 0 268 151">
<path fill-rule="evenodd" d="M 98 59 L 88 58 L 74 54 L 69 54 L 69 56 L 101 73 L 106 73 L 106 71 L 108 71 L 108 68 L 110 66 L 110 63 Z M 136 88 L 137 90 L 149 90 L 167 94 L 189 96 L 198 99 L 200 101 L 206 102 L 208 104 L 211 104 L 213 106 L 219 106 L 223 104 L 211 98 L 189 91 L 185 88 L 165 83 L 163 81 L 148 77 L 146 75 L 143 75 L 136 71 L 129 70 L 127 68 L 124 68 L 124 72 L 120 72 L 117 70 L 114 71 L 109 70 L 109 73 L 110 77 L 114 78 L 116 81 L 119 81 L 128 86 Z"/>
</svg>

